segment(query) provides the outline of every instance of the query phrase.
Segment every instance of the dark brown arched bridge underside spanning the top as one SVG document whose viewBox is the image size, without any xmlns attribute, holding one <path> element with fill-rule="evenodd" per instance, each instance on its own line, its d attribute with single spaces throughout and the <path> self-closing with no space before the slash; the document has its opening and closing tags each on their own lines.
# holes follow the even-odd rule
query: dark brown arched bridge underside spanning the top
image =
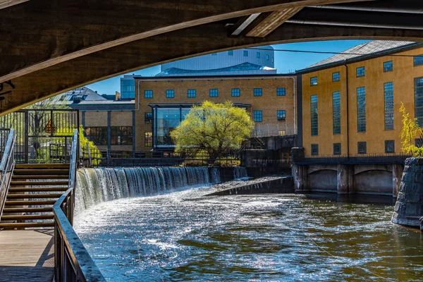
<svg viewBox="0 0 423 282">
<path fill-rule="evenodd" d="M 114 75 L 322 39 L 423 42 L 417 0 L 0 0 L 0 116 Z"/>
</svg>

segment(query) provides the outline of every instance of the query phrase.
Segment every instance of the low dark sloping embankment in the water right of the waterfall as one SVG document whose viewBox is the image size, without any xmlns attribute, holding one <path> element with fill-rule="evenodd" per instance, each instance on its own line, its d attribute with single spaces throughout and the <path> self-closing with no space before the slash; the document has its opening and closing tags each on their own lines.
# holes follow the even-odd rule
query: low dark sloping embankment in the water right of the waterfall
<svg viewBox="0 0 423 282">
<path fill-rule="evenodd" d="M 229 181 L 216 185 L 216 192 L 205 196 L 293 193 L 292 176 L 266 176 L 253 180 Z"/>
</svg>

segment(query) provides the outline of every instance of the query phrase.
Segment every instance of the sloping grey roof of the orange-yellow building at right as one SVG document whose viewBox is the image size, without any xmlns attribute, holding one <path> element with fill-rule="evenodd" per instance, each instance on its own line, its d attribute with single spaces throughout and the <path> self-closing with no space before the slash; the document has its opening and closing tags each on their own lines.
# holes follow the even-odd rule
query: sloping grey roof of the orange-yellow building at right
<svg viewBox="0 0 423 282">
<path fill-rule="evenodd" d="M 403 49 L 417 44 L 419 43 L 407 41 L 374 40 L 358 44 L 355 47 L 343 51 L 342 54 L 336 54 L 328 59 L 314 63 L 312 66 L 305 68 L 303 71 L 307 71 L 309 68 L 323 67 L 351 59 L 366 59 L 367 56 L 385 54 L 386 52 L 396 51 L 397 49 Z"/>
</svg>

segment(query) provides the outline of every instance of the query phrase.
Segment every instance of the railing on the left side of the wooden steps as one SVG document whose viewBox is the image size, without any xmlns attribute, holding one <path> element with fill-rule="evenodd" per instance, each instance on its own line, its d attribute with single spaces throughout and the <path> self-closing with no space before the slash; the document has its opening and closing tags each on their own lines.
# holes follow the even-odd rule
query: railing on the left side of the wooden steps
<svg viewBox="0 0 423 282">
<path fill-rule="evenodd" d="M 4 137 L 1 135 L 1 137 Z M 3 214 L 4 203 L 8 193 L 8 187 L 11 182 L 13 168 L 15 167 L 15 159 L 13 158 L 13 145 L 15 145 L 16 134 L 15 130 L 8 130 L 8 138 L 6 144 L 3 146 L 4 140 L 1 140 L 1 149 L 3 156 L 0 163 L 0 218 Z"/>
</svg>

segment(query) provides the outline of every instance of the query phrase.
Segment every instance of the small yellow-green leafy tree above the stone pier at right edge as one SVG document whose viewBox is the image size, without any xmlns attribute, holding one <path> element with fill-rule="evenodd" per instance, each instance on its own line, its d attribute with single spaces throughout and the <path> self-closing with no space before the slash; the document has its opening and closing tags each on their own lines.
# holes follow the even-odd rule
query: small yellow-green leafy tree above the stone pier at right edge
<svg viewBox="0 0 423 282">
<path fill-rule="evenodd" d="M 410 118 L 410 113 L 405 109 L 401 102 L 400 112 L 403 114 L 403 128 L 401 128 L 401 149 L 406 154 L 411 154 L 412 157 L 423 157 L 423 147 L 415 145 L 415 137 L 422 138 L 422 128 L 420 128 L 417 118 Z"/>
</svg>

